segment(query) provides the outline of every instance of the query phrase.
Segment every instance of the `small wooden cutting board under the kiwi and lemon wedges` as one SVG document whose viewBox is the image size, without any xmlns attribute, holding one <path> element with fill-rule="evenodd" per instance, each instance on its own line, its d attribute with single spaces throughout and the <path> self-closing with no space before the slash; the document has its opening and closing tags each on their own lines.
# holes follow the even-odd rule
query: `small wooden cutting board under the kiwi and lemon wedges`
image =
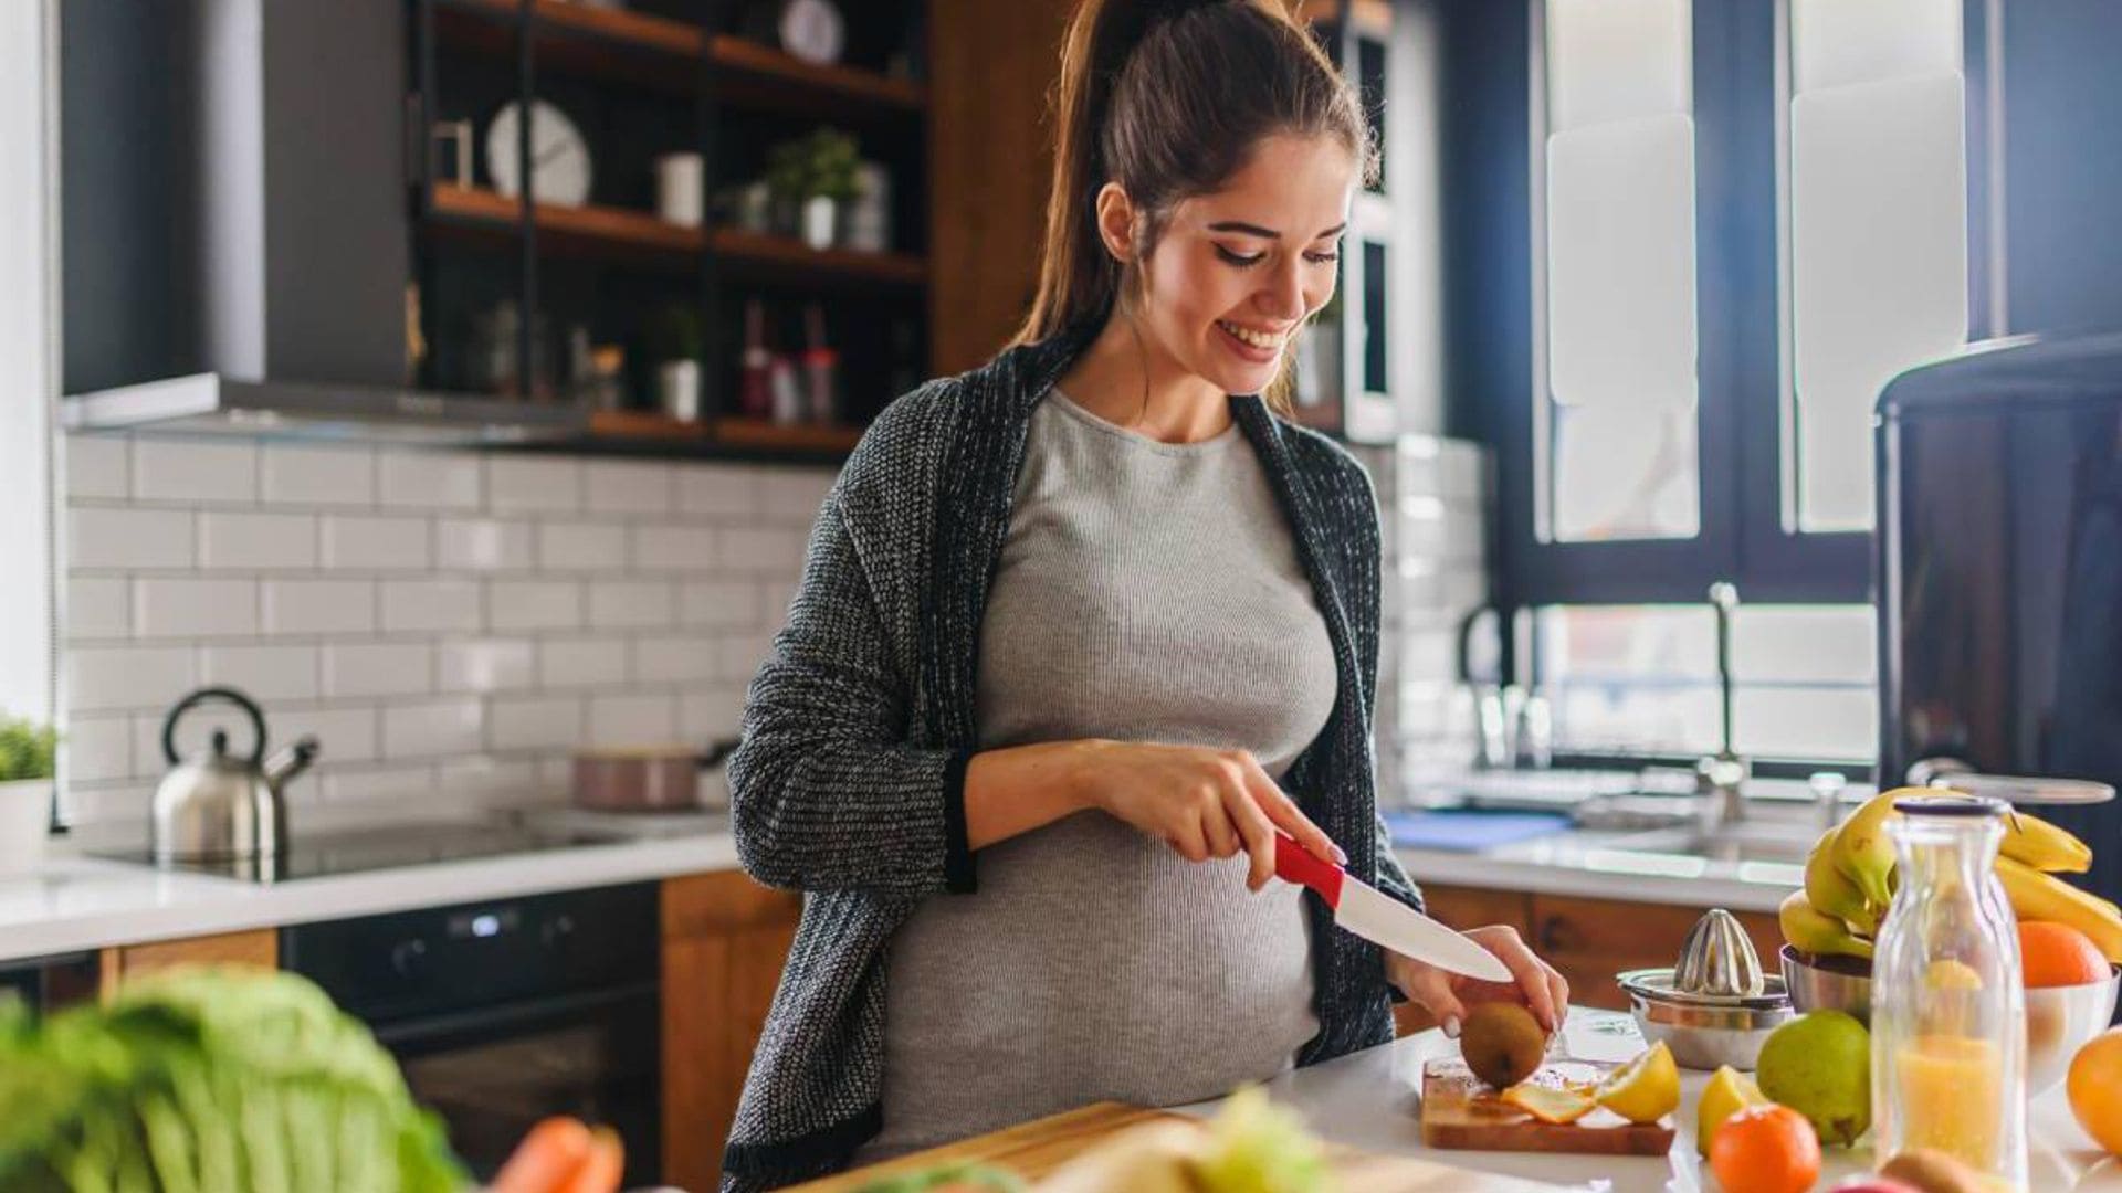
<svg viewBox="0 0 2122 1193">
<path fill-rule="evenodd" d="M 1598 1083 L 1615 1068 L 1619 1066 L 1602 1061 L 1549 1061 L 1532 1080 Z M 1543 1123 L 1498 1102 L 1460 1057 L 1430 1057 L 1422 1066 L 1422 1142 L 1462 1151 L 1666 1155 L 1672 1151 L 1672 1114 L 1655 1123 L 1630 1123 L 1613 1110 L 1592 1110 L 1575 1123 Z"/>
</svg>

